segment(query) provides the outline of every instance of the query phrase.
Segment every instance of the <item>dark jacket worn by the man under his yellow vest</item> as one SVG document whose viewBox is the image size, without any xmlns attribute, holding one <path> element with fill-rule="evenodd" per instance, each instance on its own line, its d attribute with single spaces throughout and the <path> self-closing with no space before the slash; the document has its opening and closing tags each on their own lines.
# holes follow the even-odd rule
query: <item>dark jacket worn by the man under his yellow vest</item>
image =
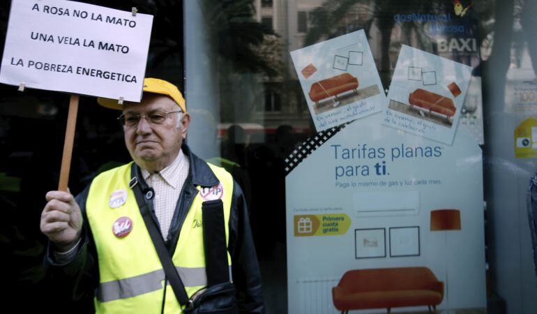
<svg viewBox="0 0 537 314">
<path fill-rule="evenodd" d="M 183 153 L 190 160 L 188 177 L 181 190 L 181 195 L 172 218 L 169 234 L 165 241 L 170 255 L 173 255 L 179 239 L 179 231 L 184 217 L 188 213 L 190 204 L 198 190 L 196 186 L 215 186 L 218 179 L 204 160 L 190 152 L 183 144 Z M 90 184 L 91 186 L 91 184 Z M 45 267 L 54 281 L 62 281 L 73 291 L 73 299 L 83 299 L 93 293 L 99 284 L 98 258 L 93 235 L 86 216 L 86 199 L 89 186 L 76 197 L 84 217 L 82 241 L 73 260 L 66 264 L 59 264 L 54 260 L 54 245 L 49 244 L 45 256 Z M 158 224 L 154 214 L 153 220 Z M 232 257 L 233 283 L 237 290 L 237 299 L 241 313 L 264 313 L 261 274 L 257 263 L 257 256 L 252 240 L 248 209 L 246 208 L 241 187 L 234 183 L 231 213 L 229 217 L 229 254 Z M 156 305 L 160 306 L 160 305 Z"/>
</svg>

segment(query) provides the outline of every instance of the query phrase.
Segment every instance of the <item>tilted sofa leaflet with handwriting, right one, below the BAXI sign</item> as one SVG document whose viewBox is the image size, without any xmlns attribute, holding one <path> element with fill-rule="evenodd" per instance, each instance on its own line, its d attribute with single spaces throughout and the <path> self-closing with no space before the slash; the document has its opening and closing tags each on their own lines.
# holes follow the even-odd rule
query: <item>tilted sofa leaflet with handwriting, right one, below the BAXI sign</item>
<svg viewBox="0 0 537 314">
<path fill-rule="evenodd" d="M 403 45 L 382 124 L 451 144 L 471 67 Z"/>
</svg>

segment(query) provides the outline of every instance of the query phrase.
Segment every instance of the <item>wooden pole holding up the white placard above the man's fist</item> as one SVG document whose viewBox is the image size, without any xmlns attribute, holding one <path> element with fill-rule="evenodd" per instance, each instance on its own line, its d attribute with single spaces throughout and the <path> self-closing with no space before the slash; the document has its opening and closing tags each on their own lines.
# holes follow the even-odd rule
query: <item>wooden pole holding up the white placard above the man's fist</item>
<svg viewBox="0 0 537 314">
<path fill-rule="evenodd" d="M 67 117 L 66 140 L 63 143 L 63 157 L 61 158 L 60 183 L 58 190 L 67 192 L 69 182 L 69 170 L 71 157 L 73 156 L 73 142 L 75 140 L 75 128 L 77 126 L 78 95 L 71 95 L 69 100 L 69 114 Z"/>
</svg>

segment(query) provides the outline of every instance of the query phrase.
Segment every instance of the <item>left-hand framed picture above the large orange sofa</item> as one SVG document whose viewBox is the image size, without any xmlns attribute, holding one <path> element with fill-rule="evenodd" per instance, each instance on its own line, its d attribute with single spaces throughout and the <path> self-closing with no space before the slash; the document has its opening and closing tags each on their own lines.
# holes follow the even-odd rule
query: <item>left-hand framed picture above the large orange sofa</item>
<svg viewBox="0 0 537 314">
<path fill-rule="evenodd" d="M 356 258 L 386 257 L 386 229 L 354 230 Z"/>
</svg>

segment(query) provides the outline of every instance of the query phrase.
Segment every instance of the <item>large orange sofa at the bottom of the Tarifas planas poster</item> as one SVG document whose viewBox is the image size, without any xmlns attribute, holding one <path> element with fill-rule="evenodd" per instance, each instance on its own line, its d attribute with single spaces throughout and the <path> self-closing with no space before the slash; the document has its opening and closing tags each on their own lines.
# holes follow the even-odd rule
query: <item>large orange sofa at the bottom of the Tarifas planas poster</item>
<svg viewBox="0 0 537 314">
<path fill-rule="evenodd" d="M 444 299 L 444 283 L 427 267 L 355 269 L 347 271 L 332 288 L 335 308 L 350 310 L 401 306 L 436 306 Z"/>
</svg>

